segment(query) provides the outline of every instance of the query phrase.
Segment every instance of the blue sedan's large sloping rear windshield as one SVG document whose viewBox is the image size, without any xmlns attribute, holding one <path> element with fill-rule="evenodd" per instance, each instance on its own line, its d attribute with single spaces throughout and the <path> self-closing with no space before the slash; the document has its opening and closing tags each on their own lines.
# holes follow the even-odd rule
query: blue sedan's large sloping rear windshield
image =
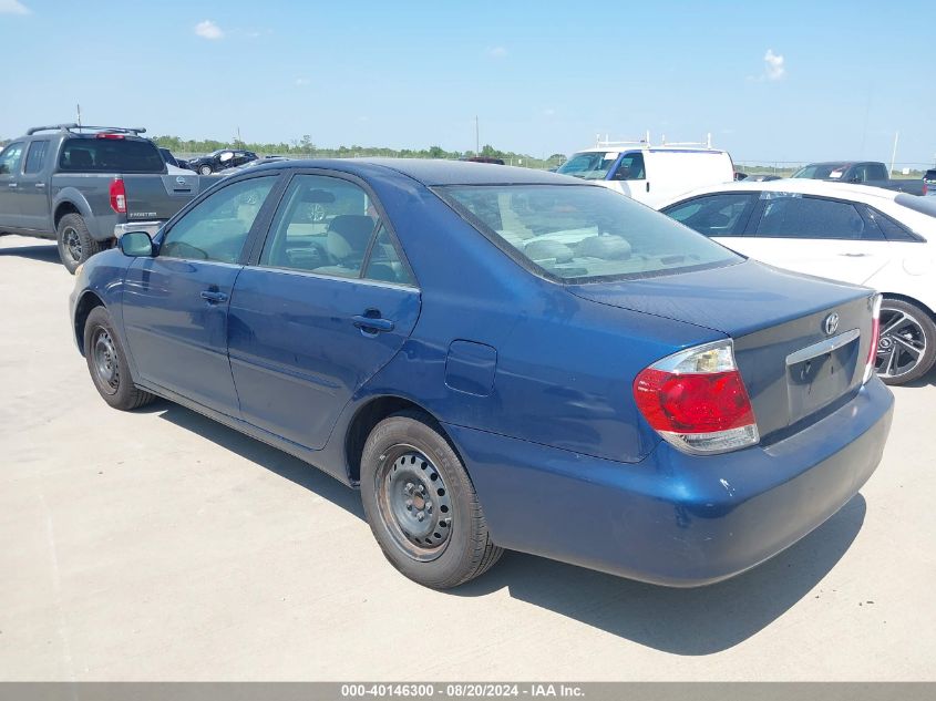
<svg viewBox="0 0 936 701">
<path fill-rule="evenodd" d="M 507 252 L 567 282 L 668 275 L 742 260 L 604 187 L 453 185 L 435 192 Z"/>
</svg>

